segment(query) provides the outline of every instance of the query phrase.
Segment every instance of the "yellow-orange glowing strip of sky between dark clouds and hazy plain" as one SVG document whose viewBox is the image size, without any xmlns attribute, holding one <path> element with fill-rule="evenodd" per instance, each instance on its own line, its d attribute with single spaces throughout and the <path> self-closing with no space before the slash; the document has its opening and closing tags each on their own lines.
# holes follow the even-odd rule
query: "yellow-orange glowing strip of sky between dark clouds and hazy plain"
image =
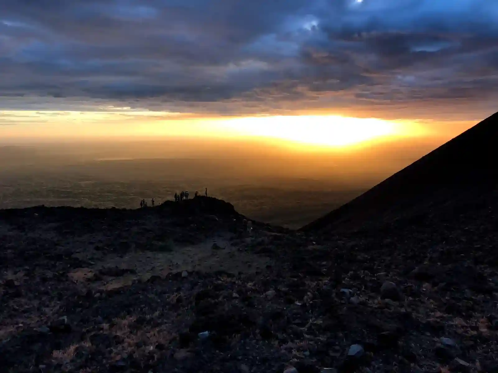
<svg viewBox="0 0 498 373">
<path fill-rule="evenodd" d="M 279 141 L 308 149 L 348 148 L 380 140 L 456 136 L 472 122 L 438 125 L 339 115 L 199 117 L 151 111 L 3 111 L 3 141 L 141 137 L 205 137 Z"/>
</svg>

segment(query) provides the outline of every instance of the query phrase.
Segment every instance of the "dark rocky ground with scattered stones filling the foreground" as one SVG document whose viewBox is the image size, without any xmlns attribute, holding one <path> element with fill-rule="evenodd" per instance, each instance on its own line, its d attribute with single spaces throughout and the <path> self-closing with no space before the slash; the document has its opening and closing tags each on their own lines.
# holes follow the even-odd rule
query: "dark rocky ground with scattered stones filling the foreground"
<svg viewBox="0 0 498 373">
<path fill-rule="evenodd" d="M 329 234 L 214 198 L 0 212 L 0 371 L 498 372 L 496 205 Z"/>
</svg>

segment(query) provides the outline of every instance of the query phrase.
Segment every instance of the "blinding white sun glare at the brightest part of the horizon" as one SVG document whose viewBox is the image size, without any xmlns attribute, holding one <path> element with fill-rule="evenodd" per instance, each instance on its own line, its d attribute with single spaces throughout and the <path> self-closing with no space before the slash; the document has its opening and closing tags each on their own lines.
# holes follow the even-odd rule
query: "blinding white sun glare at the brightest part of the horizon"
<svg viewBox="0 0 498 373">
<path fill-rule="evenodd" d="M 407 134 L 407 128 L 400 123 L 341 116 L 249 117 L 232 119 L 224 125 L 241 135 L 334 147 Z"/>
</svg>

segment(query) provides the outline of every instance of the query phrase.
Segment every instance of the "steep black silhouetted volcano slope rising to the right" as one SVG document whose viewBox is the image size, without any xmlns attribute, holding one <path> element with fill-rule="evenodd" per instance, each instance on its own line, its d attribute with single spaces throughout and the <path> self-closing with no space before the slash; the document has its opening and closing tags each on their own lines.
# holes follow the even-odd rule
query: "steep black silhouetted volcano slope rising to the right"
<svg viewBox="0 0 498 373">
<path fill-rule="evenodd" d="M 423 219 L 451 206 L 483 202 L 497 188 L 497 140 L 495 113 L 301 230 L 355 229 L 417 215 Z"/>
</svg>

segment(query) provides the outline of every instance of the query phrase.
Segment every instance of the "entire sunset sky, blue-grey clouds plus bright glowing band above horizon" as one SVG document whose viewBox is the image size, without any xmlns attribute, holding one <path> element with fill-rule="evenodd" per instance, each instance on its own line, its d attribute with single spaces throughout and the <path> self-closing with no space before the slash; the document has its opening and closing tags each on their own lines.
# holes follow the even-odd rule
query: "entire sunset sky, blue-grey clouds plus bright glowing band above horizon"
<svg viewBox="0 0 498 373">
<path fill-rule="evenodd" d="M 449 139 L 498 102 L 498 1 L 2 0 L 0 141 Z"/>
</svg>

